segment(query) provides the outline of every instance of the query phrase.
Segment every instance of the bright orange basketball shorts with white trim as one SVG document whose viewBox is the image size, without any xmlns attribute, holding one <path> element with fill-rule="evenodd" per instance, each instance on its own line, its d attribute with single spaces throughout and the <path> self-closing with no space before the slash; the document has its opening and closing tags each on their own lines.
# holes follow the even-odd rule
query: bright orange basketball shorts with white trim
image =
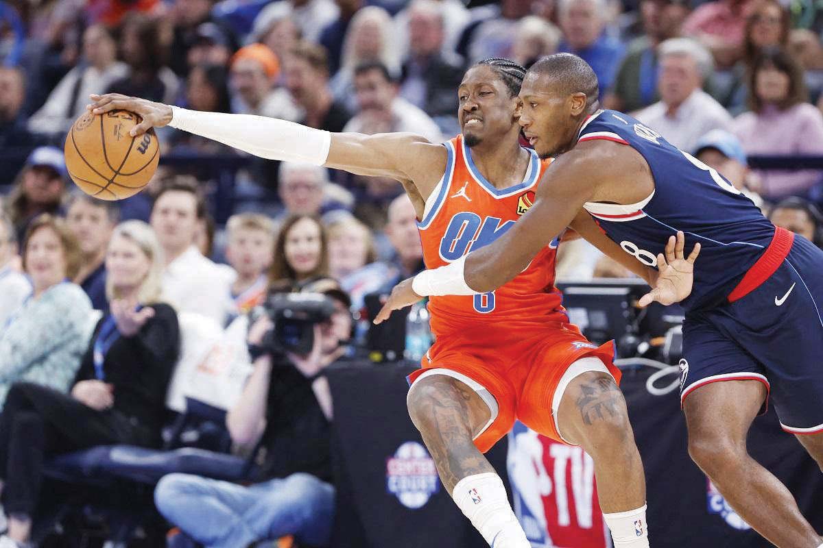
<svg viewBox="0 0 823 548">
<path fill-rule="evenodd" d="M 565 443 L 552 410 L 560 380 L 575 361 L 597 357 L 619 384 L 621 372 L 613 363 L 614 356 L 613 342 L 597 347 L 571 324 L 550 321 L 539 329 L 528 325 L 528 331 L 489 325 L 437 340 L 423 357 L 422 369 L 408 380 L 413 388 L 426 371 L 445 369 L 488 390 L 496 400 L 497 417 L 474 440 L 477 449 L 486 453 L 509 433 L 515 420 Z"/>
</svg>

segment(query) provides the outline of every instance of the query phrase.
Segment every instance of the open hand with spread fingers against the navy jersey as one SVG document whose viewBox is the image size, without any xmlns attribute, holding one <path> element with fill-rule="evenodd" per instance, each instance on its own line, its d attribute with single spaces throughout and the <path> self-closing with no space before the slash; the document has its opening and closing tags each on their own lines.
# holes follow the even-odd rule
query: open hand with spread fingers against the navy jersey
<svg viewBox="0 0 823 548">
<path fill-rule="evenodd" d="M 677 237 L 669 237 L 666 256 L 658 254 L 658 276 L 653 283 L 654 288 L 640 298 L 639 306 L 649 306 L 654 301 L 671 305 L 689 296 L 694 281 L 695 260 L 700 255 L 700 243 L 695 243 L 694 249 L 686 258 L 684 246 L 686 237 L 682 232 L 678 231 Z"/>
</svg>

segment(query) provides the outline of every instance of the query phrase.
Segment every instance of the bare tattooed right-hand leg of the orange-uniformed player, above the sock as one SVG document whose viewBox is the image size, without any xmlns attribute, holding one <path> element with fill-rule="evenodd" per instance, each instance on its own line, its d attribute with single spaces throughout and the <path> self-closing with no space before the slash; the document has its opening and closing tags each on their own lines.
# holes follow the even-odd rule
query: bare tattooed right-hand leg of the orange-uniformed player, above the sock
<svg viewBox="0 0 823 548">
<path fill-rule="evenodd" d="M 575 377 L 560 401 L 557 422 L 564 439 L 579 444 L 592 457 L 604 513 L 645 504 L 643 463 L 625 399 L 611 375 L 588 371 Z"/>
</svg>

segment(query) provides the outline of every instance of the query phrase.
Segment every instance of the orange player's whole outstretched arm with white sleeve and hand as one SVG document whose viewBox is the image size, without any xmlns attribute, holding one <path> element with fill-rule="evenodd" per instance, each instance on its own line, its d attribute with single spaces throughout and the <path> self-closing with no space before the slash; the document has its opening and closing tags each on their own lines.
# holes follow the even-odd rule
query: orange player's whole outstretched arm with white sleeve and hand
<svg viewBox="0 0 823 548">
<path fill-rule="evenodd" d="M 91 95 L 91 100 L 88 108 L 95 114 L 116 109 L 139 114 L 143 120 L 133 128 L 133 136 L 151 127 L 171 126 L 261 158 L 314 163 L 413 183 L 423 200 L 446 165 L 443 146 L 410 133 L 330 133 L 277 118 L 199 112 L 122 94 Z"/>
</svg>

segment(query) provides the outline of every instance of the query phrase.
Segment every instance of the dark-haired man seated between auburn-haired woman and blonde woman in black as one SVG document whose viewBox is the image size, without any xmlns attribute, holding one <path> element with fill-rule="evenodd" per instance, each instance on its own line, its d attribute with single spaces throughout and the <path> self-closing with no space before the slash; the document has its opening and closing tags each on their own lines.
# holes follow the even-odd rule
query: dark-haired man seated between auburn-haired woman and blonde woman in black
<svg viewBox="0 0 823 548">
<path fill-rule="evenodd" d="M 105 255 L 109 238 L 117 224 L 118 210 L 114 202 L 96 200 L 86 194 L 76 194 L 66 208 L 66 224 L 74 233 L 83 253 L 83 262 L 73 281 L 91 300 L 95 310 L 108 311 L 105 298 Z"/>
</svg>

